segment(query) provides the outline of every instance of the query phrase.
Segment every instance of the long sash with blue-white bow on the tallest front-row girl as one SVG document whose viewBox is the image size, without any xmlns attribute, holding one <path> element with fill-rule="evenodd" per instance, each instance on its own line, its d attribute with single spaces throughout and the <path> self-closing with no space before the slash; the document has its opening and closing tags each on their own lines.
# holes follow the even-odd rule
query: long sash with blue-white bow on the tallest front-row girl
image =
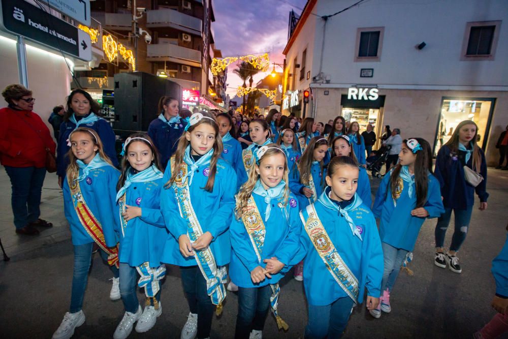
<svg viewBox="0 0 508 339">
<path fill-rule="evenodd" d="M 175 158 L 171 158 L 171 173 L 175 171 Z M 178 169 L 178 175 L 173 183 L 172 189 L 175 192 L 180 216 L 187 222 L 187 236 L 190 242 L 196 241 L 202 234 L 203 229 L 199 223 L 194 207 L 190 201 L 190 190 L 187 178 L 183 178 L 187 174 L 187 164 L 183 163 Z M 198 263 L 199 269 L 206 280 L 207 293 L 212 299 L 212 303 L 217 305 L 216 315 L 222 313 L 222 302 L 226 298 L 226 288 L 223 284 L 227 283 L 228 273 L 226 266 L 217 267 L 215 257 L 213 256 L 210 246 L 203 250 L 194 250 L 196 255 L 194 258 Z"/>
</svg>

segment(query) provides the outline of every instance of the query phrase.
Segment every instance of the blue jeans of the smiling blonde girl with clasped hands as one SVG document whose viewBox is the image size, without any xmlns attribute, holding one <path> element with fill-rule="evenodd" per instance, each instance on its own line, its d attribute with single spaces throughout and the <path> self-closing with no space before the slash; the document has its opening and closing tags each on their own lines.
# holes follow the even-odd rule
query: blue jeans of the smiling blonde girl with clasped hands
<svg viewBox="0 0 508 339">
<path fill-rule="evenodd" d="M 249 337 L 251 330 L 262 331 L 270 309 L 270 285 L 253 288 L 238 288 L 238 315 L 236 316 L 235 338 Z"/>
</svg>

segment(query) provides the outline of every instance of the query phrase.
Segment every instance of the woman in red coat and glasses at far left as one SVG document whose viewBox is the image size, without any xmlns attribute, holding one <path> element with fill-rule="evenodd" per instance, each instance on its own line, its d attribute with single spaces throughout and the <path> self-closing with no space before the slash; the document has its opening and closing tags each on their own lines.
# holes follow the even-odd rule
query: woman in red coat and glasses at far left
<svg viewBox="0 0 508 339">
<path fill-rule="evenodd" d="M 16 233 L 39 234 L 53 224 L 39 219 L 41 191 L 46 176 L 46 148 L 56 145 L 41 117 L 32 112 L 35 99 L 22 85 L 9 85 L 2 96 L 9 107 L 0 109 L 0 162 L 12 185 L 12 213 Z"/>
</svg>

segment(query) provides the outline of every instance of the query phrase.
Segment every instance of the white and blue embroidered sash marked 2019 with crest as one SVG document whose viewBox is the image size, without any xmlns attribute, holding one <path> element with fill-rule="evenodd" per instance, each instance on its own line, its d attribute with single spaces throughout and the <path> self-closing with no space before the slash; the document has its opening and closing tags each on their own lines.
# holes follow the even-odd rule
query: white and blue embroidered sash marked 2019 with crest
<svg viewBox="0 0 508 339">
<path fill-rule="evenodd" d="M 335 279 L 340 288 L 353 299 L 355 304 L 358 303 L 358 279 L 347 267 L 335 249 L 334 244 L 331 242 L 325 227 L 317 215 L 314 204 L 310 204 L 300 211 L 300 219 L 305 225 L 304 228 L 310 241 L 314 244 L 314 249 L 321 259 L 323 259 L 333 279 Z"/>
</svg>

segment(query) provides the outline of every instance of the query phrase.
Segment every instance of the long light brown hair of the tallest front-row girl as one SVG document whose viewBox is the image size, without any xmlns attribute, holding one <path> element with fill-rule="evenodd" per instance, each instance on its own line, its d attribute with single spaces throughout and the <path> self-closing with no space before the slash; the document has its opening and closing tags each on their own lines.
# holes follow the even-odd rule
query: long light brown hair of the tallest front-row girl
<svg viewBox="0 0 508 339">
<path fill-rule="evenodd" d="M 215 183 L 215 173 L 217 172 L 217 162 L 220 157 L 220 153 L 224 150 L 224 145 L 222 142 L 222 138 L 219 134 L 219 125 L 217 124 L 217 121 L 213 118 L 212 115 L 208 113 L 201 113 L 203 116 L 207 116 L 211 119 L 202 118 L 200 121 L 198 121 L 195 125 L 190 126 L 187 130 L 187 132 L 184 132 L 178 141 L 178 146 L 176 147 L 175 152 L 175 170 L 171 173 L 171 178 L 166 182 L 164 187 L 166 189 L 170 188 L 173 182 L 175 182 L 176 177 L 178 176 L 179 168 L 183 165 L 183 155 L 185 154 L 185 150 L 187 149 L 187 146 L 190 145 L 190 141 L 187 140 L 185 137 L 186 133 L 191 133 L 194 131 L 198 126 L 202 124 L 207 124 L 213 127 L 213 130 L 215 131 L 215 141 L 213 143 L 213 155 L 212 159 L 210 160 L 210 175 L 208 176 L 208 180 L 206 181 L 206 185 L 204 187 L 205 191 L 212 192 L 213 191 L 213 184 Z M 170 160 L 171 161 L 171 160 Z"/>
</svg>

